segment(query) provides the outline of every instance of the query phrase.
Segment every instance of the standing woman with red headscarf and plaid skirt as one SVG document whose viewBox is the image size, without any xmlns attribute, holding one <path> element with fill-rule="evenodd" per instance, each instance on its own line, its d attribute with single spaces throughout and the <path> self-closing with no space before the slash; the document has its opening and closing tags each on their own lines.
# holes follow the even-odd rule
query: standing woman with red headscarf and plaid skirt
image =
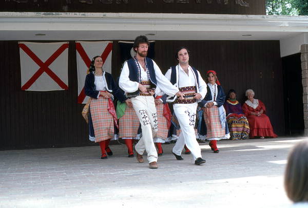
<svg viewBox="0 0 308 208">
<path fill-rule="evenodd" d="M 229 129 L 226 121 L 226 112 L 223 107 L 225 93 L 217 79 L 216 72 L 209 70 L 206 73 L 207 94 L 199 106 L 199 139 L 209 140 L 209 146 L 214 153 L 219 153 L 217 140 L 229 139 Z M 202 117 L 203 114 L 203 117 Z"/>
</svg>

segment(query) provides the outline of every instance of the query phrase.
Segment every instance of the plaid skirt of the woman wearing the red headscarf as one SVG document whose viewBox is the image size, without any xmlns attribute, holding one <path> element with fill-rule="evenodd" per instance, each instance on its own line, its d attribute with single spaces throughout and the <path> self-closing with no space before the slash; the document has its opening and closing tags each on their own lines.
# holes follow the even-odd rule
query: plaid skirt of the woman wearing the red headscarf
<svg viewBox="0 0 308 208">
<path fill-rule="evenodd" d="M 217 106 L 203 108 L 203 116 L 206 125 L 206 139 L 225 137 L 225 128 L 222 128 Z"/>
</svg>

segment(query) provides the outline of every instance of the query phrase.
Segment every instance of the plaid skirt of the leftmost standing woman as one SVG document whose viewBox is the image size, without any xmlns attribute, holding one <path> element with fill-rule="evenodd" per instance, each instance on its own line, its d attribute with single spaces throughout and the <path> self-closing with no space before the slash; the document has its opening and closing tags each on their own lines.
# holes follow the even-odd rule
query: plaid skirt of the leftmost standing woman
<svg viewBox="0 0 308 208">
<path fill-rule="evenodd" d="M 112 139 L 114 134 L 113 117 L 108 108 L 108 99 L 92 99 L 90 111 L 93 122 L 95 142 Z"/>
</svg>

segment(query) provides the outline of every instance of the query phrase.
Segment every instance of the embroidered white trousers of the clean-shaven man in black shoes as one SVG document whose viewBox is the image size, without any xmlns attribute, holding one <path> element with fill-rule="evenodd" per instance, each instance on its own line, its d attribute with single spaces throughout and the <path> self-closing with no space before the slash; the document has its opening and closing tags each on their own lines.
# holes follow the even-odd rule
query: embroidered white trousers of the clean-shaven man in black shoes
<svg viewBox="0 0 308 208">
<path fill-rule="evenodd" d="M 181 127 L 180 136 L 172 152 L 181 155 L 184 145 L 190 150 L 194 160 L 202 158 L 201 149 L 196 139 L 195 122 L 197 103 L 192 104 L 174 104 L 174 111 Z"/>
</svg>

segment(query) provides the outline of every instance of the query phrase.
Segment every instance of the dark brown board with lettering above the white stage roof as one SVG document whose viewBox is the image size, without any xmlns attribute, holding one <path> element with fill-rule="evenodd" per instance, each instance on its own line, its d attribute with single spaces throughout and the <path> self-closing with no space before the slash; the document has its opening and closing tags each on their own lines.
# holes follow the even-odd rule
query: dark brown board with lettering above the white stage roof
<svg viewBox="0 0 308 208">
<path fill-rule="evenodd" d="M 265 14 L 265 0 L 5 0 L 0 11 Z"/>
</svg>

